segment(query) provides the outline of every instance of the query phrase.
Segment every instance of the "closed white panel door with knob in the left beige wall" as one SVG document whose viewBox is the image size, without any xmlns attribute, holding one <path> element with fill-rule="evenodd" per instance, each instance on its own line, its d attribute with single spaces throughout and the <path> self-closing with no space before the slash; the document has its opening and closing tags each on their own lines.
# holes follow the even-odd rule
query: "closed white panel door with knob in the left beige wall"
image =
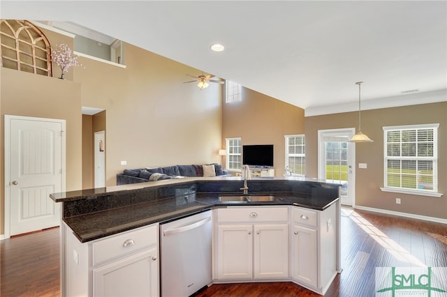
<svg viewBox="0 0 447 297">
<path fill-rule="evenodd" d="M 64 152 L 64 120 L 5 116 L 6 237 L 59 226 Z"/>
</svg>

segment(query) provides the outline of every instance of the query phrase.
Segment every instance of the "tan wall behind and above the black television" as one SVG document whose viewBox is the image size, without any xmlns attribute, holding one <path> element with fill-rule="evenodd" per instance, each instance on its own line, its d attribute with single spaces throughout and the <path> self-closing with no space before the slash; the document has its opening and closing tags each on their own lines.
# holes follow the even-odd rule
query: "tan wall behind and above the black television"
<svg viewBox="0 0 447 297">
<path fill-rule="evenodd" d="M 304 109 L 242 88 L 242 100 L 223 103 L 222 145 L 226 138 L 241 137 L 244 144 L 273 144 L 274 173 L 285 169 L 284 135 L 304 134 Z"/>
</svg>

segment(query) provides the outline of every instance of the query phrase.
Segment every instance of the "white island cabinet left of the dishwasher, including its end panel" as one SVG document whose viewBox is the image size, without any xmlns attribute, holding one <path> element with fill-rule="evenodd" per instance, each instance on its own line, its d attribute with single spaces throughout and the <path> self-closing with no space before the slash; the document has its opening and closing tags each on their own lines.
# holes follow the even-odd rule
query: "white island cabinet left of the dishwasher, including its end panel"
<svg viewBox="0 0 447 297">
<path fill-rule="evenodd" d="M 62 296 L 159 296 L 159 224 L 88 243 L 62 230 Z"/>
</svg>

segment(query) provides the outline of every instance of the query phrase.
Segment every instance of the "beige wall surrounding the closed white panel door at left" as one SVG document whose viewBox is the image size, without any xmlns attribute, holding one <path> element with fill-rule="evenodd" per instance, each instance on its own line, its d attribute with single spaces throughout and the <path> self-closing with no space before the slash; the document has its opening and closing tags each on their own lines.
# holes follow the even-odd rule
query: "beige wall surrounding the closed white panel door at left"
<svg viewBox="0 0 447 297">
<path fill-rule="evenodd" d="M 4 115 L 66 120 L 66 190 L 81 188 L 82 116 L 78 83 L 1 68 L 1 176 L 4 172 Z M 0 229 L 3 234 L 4 180 L 0 178 Z"/>
</svg>

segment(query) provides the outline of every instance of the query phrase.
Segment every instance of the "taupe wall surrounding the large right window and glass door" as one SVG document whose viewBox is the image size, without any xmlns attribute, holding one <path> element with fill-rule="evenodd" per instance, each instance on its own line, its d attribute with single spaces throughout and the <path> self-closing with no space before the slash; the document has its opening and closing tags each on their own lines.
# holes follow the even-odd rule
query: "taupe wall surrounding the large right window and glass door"
<svg viewBox="0 0 447 297">
<path fill-rule="evenodd" d="M 423 123 L 439 123 L 438 192 L 444 195 L 438 198 L 382 192 L 382 127 Z M 318 130 L 357 127 L 358 112 L 309 116 L 305 124 L 307 176 L 316 178 Z M 362 132 L 374 142 L 356 144 L 356 163 L 367 163 L 367 169 L 356 169 L 356 205 L 447 219 L 447 102 L 362 111 Z M 396 197 L 402 204 L 395 203 Z"/>
</svg>

